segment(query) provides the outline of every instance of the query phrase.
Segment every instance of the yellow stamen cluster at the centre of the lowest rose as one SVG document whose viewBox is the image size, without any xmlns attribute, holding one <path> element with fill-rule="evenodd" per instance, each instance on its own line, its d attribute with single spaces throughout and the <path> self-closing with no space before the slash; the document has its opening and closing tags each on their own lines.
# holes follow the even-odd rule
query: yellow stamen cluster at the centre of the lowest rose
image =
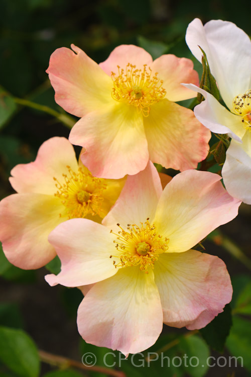
<svg viewBox="0 0 251 377">
<path fill-rule="evenodd" d="M 148 268 L 154 268 L 154 264 L 162 254 L 168 250 L 169 239 L 157 234 L 154 224 L 149 223 L 149 218 L 140 226 L 128 224 L 124 230 L 117 224 L 119 231 L 110 233 L 116 236 L 113 240 L 117 255 L 114 257 L 113 264 L 116 267 L 140 266 L 140 270 L 148 273 Z"/>
</svg>

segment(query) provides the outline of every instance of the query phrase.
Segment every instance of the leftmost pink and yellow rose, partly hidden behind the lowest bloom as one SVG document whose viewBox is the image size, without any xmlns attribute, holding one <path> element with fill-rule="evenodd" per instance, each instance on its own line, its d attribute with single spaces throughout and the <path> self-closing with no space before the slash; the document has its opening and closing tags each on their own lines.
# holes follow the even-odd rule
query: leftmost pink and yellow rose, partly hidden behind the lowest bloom
<svg viewBox="0 0 251 377">
<path fill-rule="evenodd" d="M 56 256 L 48 235 L 58 224 L 76 217 L 101 222 L 124 184 L 92 176 L 63 137 L 45 141 L 34 162 L 17 165 L 11 174 L 18 194 L 0 202 L 0 240 L 9 261 L 24 269 Z"/>
</svg>

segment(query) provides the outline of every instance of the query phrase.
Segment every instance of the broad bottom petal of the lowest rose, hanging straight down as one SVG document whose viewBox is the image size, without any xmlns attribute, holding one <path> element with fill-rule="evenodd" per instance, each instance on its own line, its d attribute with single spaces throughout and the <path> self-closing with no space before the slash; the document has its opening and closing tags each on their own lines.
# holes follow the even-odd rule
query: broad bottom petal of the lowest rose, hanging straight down
<svg viewBox="0 0 251 377">
<path fill-rule="evenodd" d="M 117 349 L 124 355 L 153 345 L 163 314 L 153 272 L 120 269 L 87 293 L 78 309 L 78 331 L 87 343 Z"/>
</svg>

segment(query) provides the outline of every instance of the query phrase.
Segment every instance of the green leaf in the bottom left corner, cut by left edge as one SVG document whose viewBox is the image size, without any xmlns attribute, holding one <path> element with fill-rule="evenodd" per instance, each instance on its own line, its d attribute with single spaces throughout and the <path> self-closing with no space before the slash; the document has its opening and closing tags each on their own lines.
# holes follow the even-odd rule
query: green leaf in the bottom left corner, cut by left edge
<svg viewBox="0 0 251 377">
<path fill-rule="evenodd" d="M 39 375 L 37 347 L 23 330 L 0 327 L 0 359 L 19 376 Z"/>
</svg>

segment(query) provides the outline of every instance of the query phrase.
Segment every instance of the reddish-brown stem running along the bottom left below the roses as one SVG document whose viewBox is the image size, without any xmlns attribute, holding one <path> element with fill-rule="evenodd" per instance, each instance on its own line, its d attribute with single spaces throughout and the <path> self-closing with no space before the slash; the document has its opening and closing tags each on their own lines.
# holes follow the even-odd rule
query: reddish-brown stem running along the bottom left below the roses
<svg viewBox="0 0 251 377">
<path fill-rule="evenodd" d="M 59 366 L 62 368 L 73 366 L 75 368 L 82 369 L 85 371 L 88 370 L 91 372 L 104 373 L 112 377 L 126 377 L 126 374 L 121 370 L 114 370 L 106 368 L 105 366 L 98 365 L 86 366 L 79 361 L 72 360 L 60 355 L 54 355 L 53 353 L 49 353 L 43 350 L 39 350 L 39 357 L 41 361 L 47 364 Z"/>
</svg>

